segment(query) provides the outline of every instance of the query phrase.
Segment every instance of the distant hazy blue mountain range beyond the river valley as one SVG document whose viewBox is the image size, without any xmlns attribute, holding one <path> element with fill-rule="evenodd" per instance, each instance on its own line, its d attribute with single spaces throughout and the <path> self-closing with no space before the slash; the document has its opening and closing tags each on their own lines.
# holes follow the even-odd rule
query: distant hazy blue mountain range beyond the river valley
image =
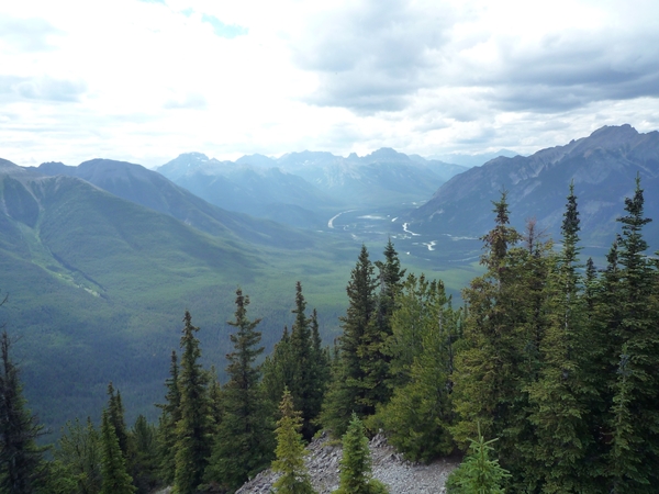
<svg viewBox="0 0 659 494">
<path fill-rule="evenodd" d="M 189 153 L 157 171 L 226 210 L 317 228 L 336 211 L 423 200 L 466 169 L 382 148 L 364 157 L 302 151 L 235 162 Z"/>
</svg>

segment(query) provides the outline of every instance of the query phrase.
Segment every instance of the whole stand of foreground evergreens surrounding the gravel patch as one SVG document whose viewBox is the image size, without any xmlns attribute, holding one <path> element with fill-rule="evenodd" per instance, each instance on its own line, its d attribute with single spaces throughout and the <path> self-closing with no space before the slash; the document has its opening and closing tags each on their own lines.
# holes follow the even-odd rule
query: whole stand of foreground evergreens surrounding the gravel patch
<svg viewBox="0 0 659 494">
<path fill-rule="evenodd" d="M 364 471 L 365 437 L 379 429 L 410 460 L 466 452 L 453 493 L 656 492 L 659 263 L 638 178 L 625 204 L 597 268 L 580 256 L 573 186 L 558 243 L 533 220 L 510 226 L 502 191 L 462 306 L 440 280 L 406 273 L 391 242 L 376 262 L 362 246 L 333 348 L 298 283 L 294 322 L 263 360 L 238 289 L 224 383 L 201 366 L 186 312 L 158 423 L 129 427 L 109 383 L 101 424 L 71 418 L 52 447 L 40 446 L 4 333 L 0 492 L 231 493 L 272 465 L 275 492 L 311 493 L 303 445 L 321 429 L 344 440 L 340 493 L 387 492 Z"/>
</svg>

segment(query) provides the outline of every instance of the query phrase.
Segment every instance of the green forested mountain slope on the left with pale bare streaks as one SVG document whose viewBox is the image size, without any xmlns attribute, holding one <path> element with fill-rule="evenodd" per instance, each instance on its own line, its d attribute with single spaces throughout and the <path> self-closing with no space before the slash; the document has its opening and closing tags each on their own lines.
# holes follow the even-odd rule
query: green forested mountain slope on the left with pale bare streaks
<svg viewBox="0 0 659 494">
<path fill-rule="evenodd" d="M 21 337 L 29 397 L 49 425 L 100 409 L 109 380 L 125 385 L 138 408 L 150 407 L 185 308 L 231 314 L 236 283 L 267 267 L 235 236 L 211 236 L 81 179 L 8 161 L 0 164 L 0 289 L 9 293 L 0 321 Z"/>
</svg>

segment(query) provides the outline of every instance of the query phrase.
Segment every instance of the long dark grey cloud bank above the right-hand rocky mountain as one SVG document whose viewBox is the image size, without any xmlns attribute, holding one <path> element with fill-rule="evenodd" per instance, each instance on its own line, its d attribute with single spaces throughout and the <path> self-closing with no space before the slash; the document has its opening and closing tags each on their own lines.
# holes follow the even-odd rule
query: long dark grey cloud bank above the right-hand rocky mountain
<svg viewBox="0 0 659 494">
<path fill-rule="evenodd" d="M 640 34 L 640 33 L 639 33 Z M 513 42 L 511 41 L 511 45 Z M 595 101 L 659 97 L 659 34 L 568 33 L 539 47 L 501 46 L 488 74 L 462 66 L 451 83 L 487 88 L 484 100 L 505 111 L 562 112 Z"/>
</svg>

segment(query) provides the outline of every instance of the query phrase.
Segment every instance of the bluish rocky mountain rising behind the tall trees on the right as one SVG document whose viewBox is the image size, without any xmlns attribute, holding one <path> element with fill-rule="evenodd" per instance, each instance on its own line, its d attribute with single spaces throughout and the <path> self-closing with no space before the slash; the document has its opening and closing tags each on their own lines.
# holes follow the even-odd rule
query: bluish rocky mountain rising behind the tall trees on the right
<svg viewBox="0 0 659 494">
<path fill-rule="evenodd" d="M 409 220 L 420 232 L 482 235 L 492 226 L 491 201 L 505 189 L 514 226 L 523 228 L 527 217 L 536 216 L 556 237 L 573 180 L 582 237 L 607 245 L 617 231 L 616 217 L 624 213 L 624 198 L 633 194 L 636 173 L 646 191 L 646 213 L 659 220 L 659 133 L 605 126 L 565 146 L 471 168 L 442 186 Z M 657 246 L 657 222 L 646 231 Z"/>
</svg>

